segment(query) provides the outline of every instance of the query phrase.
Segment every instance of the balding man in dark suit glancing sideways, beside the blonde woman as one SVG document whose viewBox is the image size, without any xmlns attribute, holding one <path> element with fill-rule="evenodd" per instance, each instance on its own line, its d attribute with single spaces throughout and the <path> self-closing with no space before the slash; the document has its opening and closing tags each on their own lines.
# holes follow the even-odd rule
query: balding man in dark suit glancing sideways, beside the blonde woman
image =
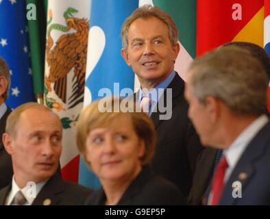
<svg viewBox="0 0 270 219">
<path fill-rule="evenodd" d="M 0 205 L 83 205 L 88 188 L 63 181 L 57 173 L 62 125 L 44 105 L 25 103 L 8 116 L 3 133 L 12 157 L 12 183 L 0 190 Z"/>
</svg>

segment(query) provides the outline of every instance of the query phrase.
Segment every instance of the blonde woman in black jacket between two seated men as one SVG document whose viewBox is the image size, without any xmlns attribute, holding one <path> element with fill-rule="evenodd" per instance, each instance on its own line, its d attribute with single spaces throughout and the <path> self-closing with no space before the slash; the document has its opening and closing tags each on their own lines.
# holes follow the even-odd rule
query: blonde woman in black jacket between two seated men
<svg viewBox="0 0 270 219">
<path fill-rule="evenodd" d="M 151 119 L 143 112 L 121 112 L 116 97 L 106 103 L 88 105 L 77 124 L 78 149 L 102 185 L 86 205 L 184 204 L 177 187 L 149 168 L 156 146 Z"/>
</svg>

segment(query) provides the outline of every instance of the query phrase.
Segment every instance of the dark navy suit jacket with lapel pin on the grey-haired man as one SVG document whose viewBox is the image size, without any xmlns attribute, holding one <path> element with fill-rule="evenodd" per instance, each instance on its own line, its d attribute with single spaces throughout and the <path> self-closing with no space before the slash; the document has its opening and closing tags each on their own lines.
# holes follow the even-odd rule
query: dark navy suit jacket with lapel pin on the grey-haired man
<svg viewBox="0 0 270 219">
<path fill-rule="evenodd" d="M 240 181 L 242 198 L 233 198 L 232 183 Z M 219 205 L 270 205 L 270 123 L 245 149 L 228 179 Z"/>
</svg>

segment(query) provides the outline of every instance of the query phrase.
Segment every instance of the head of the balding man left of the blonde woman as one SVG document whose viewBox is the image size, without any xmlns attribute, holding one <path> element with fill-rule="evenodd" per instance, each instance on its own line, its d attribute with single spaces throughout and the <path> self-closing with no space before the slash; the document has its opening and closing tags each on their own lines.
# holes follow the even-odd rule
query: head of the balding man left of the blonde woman
<svg viewBox="0 0 270 219">
<path fill-rule="evenodd" d="M 44 105 L 26 103 L 8 116 L 3 134 L 5 150 L 12 157 L 16 183 L 39 183 L 58 169 L 62 151 L 62 125 Z"/>
</svg>

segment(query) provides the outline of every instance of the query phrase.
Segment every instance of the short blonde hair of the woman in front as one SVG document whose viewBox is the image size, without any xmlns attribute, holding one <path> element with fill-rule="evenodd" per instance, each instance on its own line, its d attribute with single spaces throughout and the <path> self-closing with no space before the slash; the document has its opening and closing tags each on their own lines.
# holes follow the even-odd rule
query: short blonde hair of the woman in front
<svg viewBox="0 0 270 219">
<path fill-rule="evenodd" d="M 132 120 L 132 126 L 134 127 L 134 131 L 140 140 L 145 142 L 145 155 L 141 159 L 141 164 L 149 164 L 151 161 L 154 150 L 156 147 L 156 131 L 154 127 L 154 123 L 147 116 L 147 114 L 143 112 L 135 112 L 129 110 L 129 112 L 119 112 L 122 99 L 118 97 L 107 97 L 106 98 L 109 105 L 106 105 L 106 109 L 112 109 L 111 112 L 101 112 L 99 110 L 99 101 L 97 100 L 93 103 L 90 103 L 79 116 L 79 121 L 76 125 L 76 140 L 77 147 L 79 152 L 82 153 L 85 159 L 86 153 L 86 139 L 90 131 L 100 127 L 110 127 L 110 124 L 120 118 L 121 116 L 128 115 Z M 134 106 L 134 105 L 133 105 Z M 90 166 L 89 166 L 90 167 Z"/>
</svg>

